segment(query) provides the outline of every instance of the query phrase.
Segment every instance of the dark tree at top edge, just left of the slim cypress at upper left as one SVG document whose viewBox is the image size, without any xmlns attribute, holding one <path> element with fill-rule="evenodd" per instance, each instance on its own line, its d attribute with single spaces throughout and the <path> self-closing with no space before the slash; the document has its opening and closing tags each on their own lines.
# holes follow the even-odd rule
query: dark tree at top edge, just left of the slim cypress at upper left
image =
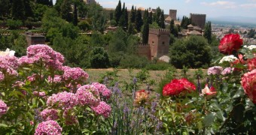
<svg viewBox="0 0 256 135">
<path fill-rule="evenodd" d="M 60 16 L 63 20 L 68 22 L 72 22 L 72 2 L 70 0 L 64 0 L 62 5 L 60 6 Z"/>
</svg>

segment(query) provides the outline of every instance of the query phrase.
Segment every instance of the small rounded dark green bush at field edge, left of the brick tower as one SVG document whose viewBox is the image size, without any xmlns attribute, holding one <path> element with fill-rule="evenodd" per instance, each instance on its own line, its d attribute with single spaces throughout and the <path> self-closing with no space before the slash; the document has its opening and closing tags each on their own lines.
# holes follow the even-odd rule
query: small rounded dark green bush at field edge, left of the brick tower
<svg viewBox="0 0 256 135">
<path fill-rule="evenodd" d="M 91 68 L 108 68 L 109 59 L 108 53 L 103 47 L 93 47 L 90 52 Z"/>
</svg>

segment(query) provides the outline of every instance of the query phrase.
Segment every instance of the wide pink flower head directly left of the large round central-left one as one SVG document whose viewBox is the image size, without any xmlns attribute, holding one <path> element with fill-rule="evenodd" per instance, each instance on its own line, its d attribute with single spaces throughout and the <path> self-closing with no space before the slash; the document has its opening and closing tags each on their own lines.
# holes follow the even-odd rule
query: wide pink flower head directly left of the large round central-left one
<svg viewBox="0 0 256 135">
<path fill-rule="evenodd" d="M 77 104 L 78 98 L 75 94 L 70 92 L 59 92 L 47 98 L 48 107 L 56 106 L 62 108 L 62 110 L 75 107 Z"/>
</svg>

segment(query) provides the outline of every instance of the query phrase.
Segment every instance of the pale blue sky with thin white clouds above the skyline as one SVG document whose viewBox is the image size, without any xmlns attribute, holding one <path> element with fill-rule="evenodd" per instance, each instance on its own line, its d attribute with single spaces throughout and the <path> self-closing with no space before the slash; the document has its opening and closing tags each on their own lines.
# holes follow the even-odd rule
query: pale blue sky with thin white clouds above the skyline
<svg viewBox="0 0 256 135">
<path fill-rule="evenodd" d="M 53 3 L 56 0 L 53 0 Z M 115 8 L 119 0 L 96 0 L 102 7 Z M 207 18 L 215 17 L 251 17 L 256 19 L 256 0 L 121 0 L 128 9 L 132 5 L 144 8 L 160 7 L 165 14 L 169 9 L 177 10 L 177 16 L 187 16 L 190 13 L 203 13 Z"/>
</svg>

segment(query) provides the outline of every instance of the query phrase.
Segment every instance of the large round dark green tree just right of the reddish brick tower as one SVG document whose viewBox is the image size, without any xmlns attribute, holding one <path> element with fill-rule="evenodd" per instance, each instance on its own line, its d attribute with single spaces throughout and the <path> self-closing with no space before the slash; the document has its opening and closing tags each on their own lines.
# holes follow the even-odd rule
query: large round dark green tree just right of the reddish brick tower
<svg viewBox="0 0 256 135">
<path fill-rule="evenodd" d="M 170 63 L 176 68 L 207 68 L 212 60 L 211 47 L 201 36 L 178 39 L 169 52 Z"/>
</svg>

